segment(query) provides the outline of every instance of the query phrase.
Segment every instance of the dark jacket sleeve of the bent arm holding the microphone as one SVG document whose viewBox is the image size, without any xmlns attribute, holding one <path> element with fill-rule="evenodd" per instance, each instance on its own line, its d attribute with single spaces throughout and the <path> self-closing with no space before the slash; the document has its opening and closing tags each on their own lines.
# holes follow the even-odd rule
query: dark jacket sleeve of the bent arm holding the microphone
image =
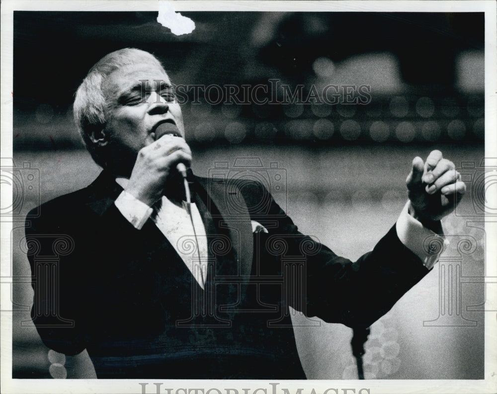
<svg viewBox="0 0 497 394">
<path fill-rule="evenodd" d="M 92 306 L 107 302 L 100 290 L 110 289 L 111 278 L 119 275 L 119 264 L 136 248 L 131 240 L 138 230 L 114 204 L 97 214 L 66 200 L 42 205 L 40 217 L 35 211 L 27 215 L 26 254 L 36 329 L 47 347 L 75 355 L 86 348 L 91 330 L 98 329 Z"/>
</svg>

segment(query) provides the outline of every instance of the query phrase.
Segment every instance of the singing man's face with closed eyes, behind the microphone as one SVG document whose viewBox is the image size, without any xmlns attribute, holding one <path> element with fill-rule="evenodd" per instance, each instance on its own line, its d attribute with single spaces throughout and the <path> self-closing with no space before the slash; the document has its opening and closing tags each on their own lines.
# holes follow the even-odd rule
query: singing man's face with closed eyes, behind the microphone
<svg viewBox="0 0 497 394">
<path fill-rule="evenodd" d="M 138 151 L 154 142 L 161 123 L 173 123 L 184 138 L 181 108 L 162 67 L 150 63 L 122 67 L 107 77 L 102 91 L 107 103 L 104 132 L 114 155 L 121 156 L 114 159 L 134 164 Z"/>
</svg>

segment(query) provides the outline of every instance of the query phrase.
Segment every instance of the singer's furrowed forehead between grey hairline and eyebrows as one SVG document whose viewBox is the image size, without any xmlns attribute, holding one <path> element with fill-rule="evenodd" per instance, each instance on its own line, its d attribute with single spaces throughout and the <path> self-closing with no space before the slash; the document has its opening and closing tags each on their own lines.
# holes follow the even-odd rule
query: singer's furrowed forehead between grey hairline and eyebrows
<svg viewBox="0 0 497 394">
<path fill-rule="evenodd" d="M 145 83 L 143 80 L 147 80 L 147 88 L 153 88 L 156 85 L 155 80 L 171 84 L 162 67 L 153 63 L 138 63 L 123 66 L 112 72 L 102 83 L 102 91 L 106 97 L 117 97 L 120 93 Z"/>
</svg>

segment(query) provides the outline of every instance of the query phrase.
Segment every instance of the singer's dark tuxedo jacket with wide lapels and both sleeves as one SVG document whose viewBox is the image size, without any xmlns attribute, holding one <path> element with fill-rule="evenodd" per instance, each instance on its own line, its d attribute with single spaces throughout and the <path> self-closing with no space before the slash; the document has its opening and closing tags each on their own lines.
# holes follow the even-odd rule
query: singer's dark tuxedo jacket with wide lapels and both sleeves
<svg viewBox="0 0 497 394">
<path fill-rule="evenodd" d="M 395 226 L 352 263 L 299 233 L 258 183 L 191 185 L 208 236 L 205 290 L 151 220 L 136 230 L 121 215 L 106 171 L 28 215 L 32 318 L 48 347 L 86 348 L 99 378 L 305 379 L 289 306 L 367 327 L 428 272 Z M 251 220 L 268 234 L 252 234 Z"/>
</svg>

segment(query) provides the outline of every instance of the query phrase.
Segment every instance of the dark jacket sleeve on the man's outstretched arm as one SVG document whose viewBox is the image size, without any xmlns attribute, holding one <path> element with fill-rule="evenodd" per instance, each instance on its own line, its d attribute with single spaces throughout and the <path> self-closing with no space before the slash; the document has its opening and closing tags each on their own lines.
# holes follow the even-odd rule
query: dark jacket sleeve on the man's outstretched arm
<svg viewBox="0 0 497 394">
<path fill-rule="evenodd" d="M 284 270 L 284 261 L 304 261 L 300 269 L 288 269 L 290 305 L 307 316 L 349 327 L 368 327 L 429 270 L 399 239 L 395 225 L 374 249 L 352 262 L 327 246 L 301 234 L 292 220 L 260 184 L 244 182 L 244 199 L 250 217 L 267 226 L 259 240 L 261 272 Z M 260 235 L 258 235 L 260 236 Z M 284 258 L 290 256 L 290 258 Z M 299 260 L 300 259 L 300 260 Z M 299 285 L 305 283 L 305 286 Z"/>
</svg>

